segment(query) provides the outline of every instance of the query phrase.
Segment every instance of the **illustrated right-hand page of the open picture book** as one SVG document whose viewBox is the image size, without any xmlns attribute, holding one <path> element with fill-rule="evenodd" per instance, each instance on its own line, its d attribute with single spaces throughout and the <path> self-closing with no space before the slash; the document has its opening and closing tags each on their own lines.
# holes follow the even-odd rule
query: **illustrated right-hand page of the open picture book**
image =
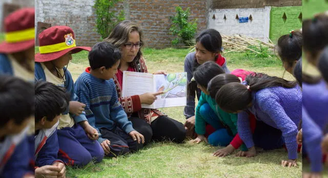
<svg viewBox="0 0 328 178">
<path fill-rule="evenodd" d="M 155 91 L 164 91 L 155 101 L 156 108 L 187 105 L 187 72 L 154 75 Z"/>
</svg>

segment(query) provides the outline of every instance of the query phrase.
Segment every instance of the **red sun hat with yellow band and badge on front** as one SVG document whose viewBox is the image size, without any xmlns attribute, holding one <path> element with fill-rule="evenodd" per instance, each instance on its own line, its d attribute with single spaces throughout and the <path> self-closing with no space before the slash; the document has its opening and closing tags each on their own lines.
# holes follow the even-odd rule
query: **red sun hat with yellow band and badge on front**
<svg viewBox="0 0 328 178">
<path fill-rule="evenodd" d="M 53 61 L 68 52 L 72 54 L 81 50 L 90 51 L 91 47 L 76 46 L 73 30 L 67 26 L 53 26 L 41 32 L 39 39 L 39 53 L 35 54 L 35 62 Z"/>
</svg>

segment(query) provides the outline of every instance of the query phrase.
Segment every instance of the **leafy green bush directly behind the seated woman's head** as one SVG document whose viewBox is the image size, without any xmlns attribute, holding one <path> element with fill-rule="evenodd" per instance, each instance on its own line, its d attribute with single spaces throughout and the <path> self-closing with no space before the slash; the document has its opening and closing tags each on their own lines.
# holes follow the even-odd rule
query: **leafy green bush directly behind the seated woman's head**
<svg viewBox="0 0 328 178">
<path fill-rule="evenodd" d="M 93 8 L 96 10 L 96 28 L 97 33 L 101 38 L 107 38 L 114 26 L 124 21 L 125 14 L 121 10 L 118 14 L 115 13 L 114 6 L 122 0 L 95 0 Z"/>
</svg>

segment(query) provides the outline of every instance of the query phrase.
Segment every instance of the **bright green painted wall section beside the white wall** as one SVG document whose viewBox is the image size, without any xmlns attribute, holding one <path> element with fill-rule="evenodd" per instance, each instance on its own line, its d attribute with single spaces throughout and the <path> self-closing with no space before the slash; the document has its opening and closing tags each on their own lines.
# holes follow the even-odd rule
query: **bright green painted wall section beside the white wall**
<svg viewBox="0 0 328 178">
<path fill-rule="evenodd" d="M 301 18 L 299 18 L 301 12 L 301 6 L 272 7 L 270 15 L 270 39 L 276 43 L 281 35 L 287 34 L 293 29 L 298 30 L 302 28 Z"/>
</svg>

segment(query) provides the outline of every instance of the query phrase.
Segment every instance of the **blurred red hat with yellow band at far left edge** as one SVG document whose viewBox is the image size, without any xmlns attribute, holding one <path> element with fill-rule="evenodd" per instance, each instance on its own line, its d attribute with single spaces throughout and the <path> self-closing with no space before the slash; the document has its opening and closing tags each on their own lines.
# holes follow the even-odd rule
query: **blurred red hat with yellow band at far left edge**
<svg viewBox="0 0 328 178">
<path fill-rule="evenodd" d="M 22 8 L 5 18 L 5 41 L 0 53 L 25 51 L 35 45 L 34 8 Z"/>
</svg>

